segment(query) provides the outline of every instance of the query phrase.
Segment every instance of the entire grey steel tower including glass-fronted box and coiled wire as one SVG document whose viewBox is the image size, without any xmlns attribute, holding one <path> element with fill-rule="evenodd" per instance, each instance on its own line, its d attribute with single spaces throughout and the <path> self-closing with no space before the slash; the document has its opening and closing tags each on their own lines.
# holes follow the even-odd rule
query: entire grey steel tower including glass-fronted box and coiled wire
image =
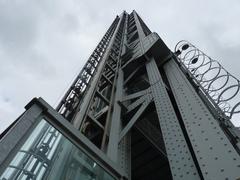
<svg viewBox="0 0 240 180">
<path fill-rule="evenodd" d="M 115 18 L 54 109 L 34 98 L 0 136 L 0 179 L 236 180 L 239 80 Z"/>
</svg>

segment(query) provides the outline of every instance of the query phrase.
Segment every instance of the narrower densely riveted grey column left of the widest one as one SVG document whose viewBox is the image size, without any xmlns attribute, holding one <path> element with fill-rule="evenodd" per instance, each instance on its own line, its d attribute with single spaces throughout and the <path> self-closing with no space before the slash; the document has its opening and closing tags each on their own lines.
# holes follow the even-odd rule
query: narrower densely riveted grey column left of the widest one
<svg viewBox="0 0 240 180">
<path fill-rule="evenodd" d="M 154 58 L 146 64 L 152 95 L 174 180 L 200 179 Z"/>
</svg>

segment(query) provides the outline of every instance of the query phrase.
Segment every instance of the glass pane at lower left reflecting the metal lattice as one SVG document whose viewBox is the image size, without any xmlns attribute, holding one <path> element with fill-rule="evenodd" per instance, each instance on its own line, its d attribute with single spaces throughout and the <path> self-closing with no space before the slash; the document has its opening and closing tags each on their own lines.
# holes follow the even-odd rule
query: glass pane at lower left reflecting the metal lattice
<svg viewBox="0 0 240 180">
<path fill-rule="evenodd" d="M 114 180 L 46 120 L 32 131 L 0 179 Z"/>
</svg>

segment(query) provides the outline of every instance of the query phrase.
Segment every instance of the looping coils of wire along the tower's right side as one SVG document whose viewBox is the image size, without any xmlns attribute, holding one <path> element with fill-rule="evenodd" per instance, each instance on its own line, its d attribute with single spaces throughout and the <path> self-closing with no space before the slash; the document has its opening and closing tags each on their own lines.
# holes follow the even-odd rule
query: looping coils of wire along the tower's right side
<svg viewBox="0 0 240 180">
<path fill-rule="evenodd" d="M 219 112 L 222 111 L 229 118 L 240 113 L 240 81 L 236 77 L 218 61 L 188 41 L 178 42 L 175 46 L 175 53 L 194 78 L 195 83 L 209 97 Z"/>
</svg>

